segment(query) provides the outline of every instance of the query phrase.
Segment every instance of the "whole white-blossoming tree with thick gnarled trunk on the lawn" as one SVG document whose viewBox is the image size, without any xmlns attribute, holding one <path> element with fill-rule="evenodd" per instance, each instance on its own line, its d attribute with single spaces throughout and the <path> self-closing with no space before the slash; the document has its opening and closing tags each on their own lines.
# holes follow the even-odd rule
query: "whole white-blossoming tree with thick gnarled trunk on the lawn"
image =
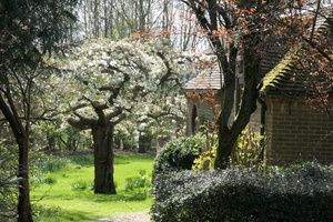
<svg viewBox="0 0 333 222">
<path fill-rule="evenodd" d="M 62 112 L 71 113 L 68 122 L 72 127 L 92 130 L 97 193 L 115 193 L 114 127 L 129 114 L 138 120 L 158 118 L 160 107 L 165 109 L 164 114 L 172 115 L 168 112 L 171 103 L 158 101 L 167 101 L 163 97 L 172 95 L 169 89 L 180 87 L 185 79 L 180 75 L 186 72 L 184 60 L 180 52 L 159 40 L 97 39 L 74 49 L 60 64 L 68 70 L 58 80 L 63 97 Z"/>
</svg>

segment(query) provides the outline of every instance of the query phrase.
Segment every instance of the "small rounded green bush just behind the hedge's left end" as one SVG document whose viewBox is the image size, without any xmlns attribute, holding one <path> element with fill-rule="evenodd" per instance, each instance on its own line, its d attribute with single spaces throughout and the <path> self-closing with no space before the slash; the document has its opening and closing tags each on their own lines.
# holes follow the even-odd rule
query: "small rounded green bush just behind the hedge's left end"
<svg viewBox="0 0 333 222">
<path fill-rule="evenodd" d="M 204 140 L 199 135 L 181 138 L 167 143 L 154 161 L 153 175 L 190 170 L 203 144 Z"/>
</svg>

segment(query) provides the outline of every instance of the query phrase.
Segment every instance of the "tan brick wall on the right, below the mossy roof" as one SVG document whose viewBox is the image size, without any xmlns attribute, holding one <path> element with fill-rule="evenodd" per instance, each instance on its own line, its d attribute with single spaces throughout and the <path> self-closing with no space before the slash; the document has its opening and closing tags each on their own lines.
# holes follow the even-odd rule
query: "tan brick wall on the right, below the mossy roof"
<svg viewBox="0 0 333 222">
<path fill-rule="evenodd" d="M 269 164 L 333 162 L 333 121 L 326 112 L 310 108 L 304 98 L 266 95 L 264 102 Z"/>
</svg>

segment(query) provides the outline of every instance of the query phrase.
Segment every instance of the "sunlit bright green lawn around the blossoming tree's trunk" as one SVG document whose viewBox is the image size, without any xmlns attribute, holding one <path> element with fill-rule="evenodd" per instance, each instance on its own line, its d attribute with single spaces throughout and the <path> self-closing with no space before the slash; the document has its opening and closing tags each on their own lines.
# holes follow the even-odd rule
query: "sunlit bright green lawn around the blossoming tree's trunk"
<svg viewBox="0 0 333 222">
<path fill-rule="evenodd" d="M 53 161 L 56 159 L 57 161 Z M 49 157 L 48 161 L 32 163 L 37 165 L 32 180 L 31 200 L 34 209 L 34 221 L 67 222 L 92 221 L 131 212 L 148 211 L 151 196 L 148 188 L 125 190 L 125 181 L 148 172 L 151 176 L 154 155 L 118 154 L 114 160 L 114 181 L 118 194 L 93 194 L 90 190 L 93 182 L 93 158 L 91 154 L 71 154 L 63 158 Z M 69 160 L 69 161 L 68 161 Z M 48 168 L 48 162 L 57 165 Z M 38 169 L 53 169 L 52 172 Z M 40 179 L 42 178 L 42 179 Z"/>
</svg>

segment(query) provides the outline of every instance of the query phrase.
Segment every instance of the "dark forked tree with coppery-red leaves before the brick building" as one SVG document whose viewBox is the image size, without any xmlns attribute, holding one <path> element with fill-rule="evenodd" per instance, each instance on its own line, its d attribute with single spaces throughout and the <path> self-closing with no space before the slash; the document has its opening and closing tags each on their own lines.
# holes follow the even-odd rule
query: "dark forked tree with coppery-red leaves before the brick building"
<svg viewBox="0 0 333 222">
<path fill-rule="evenodd" d="M 321 1 L 180 1 L 195 14 L 201 32 L 205 34 L 220 65 L 223 99 L 222 111 L 216 120 L 219 148 L 215 168 L 224 169 L 229 165 L 238 137 L 256 109 L 262 57 L 272 47 L 283 52 L 293 48 L 295 42 L 307 42 L 306 48 L 313 48 L 313 39 L 306 40 L 306 30 L 311 27 L 314 29 L 314 11 L 320 9 Z M 244 64 L 244 74 L 239 77 L 236 70 L 241 62 Z M 239 78 L 243 78 L 244 83 L 241 102 L 235 104 L 235 83 Z M 234 110 L 235 117 L 232 115 Z"/>
</svg>

